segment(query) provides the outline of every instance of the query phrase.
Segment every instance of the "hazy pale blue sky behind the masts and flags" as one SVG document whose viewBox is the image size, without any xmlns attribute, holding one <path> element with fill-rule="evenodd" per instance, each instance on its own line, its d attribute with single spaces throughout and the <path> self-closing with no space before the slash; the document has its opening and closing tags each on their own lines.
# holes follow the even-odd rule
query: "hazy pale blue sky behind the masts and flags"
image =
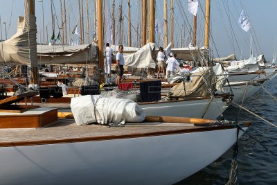
<svg viewBox="0 0 277 185">
<path fill-rule="evenodd" d="M 64 0 L 62 0 L 63 3 Z M 84 11 L 85 2 L 84 1 Z M 127 0 L 123 1 L 123 45 L 127 45 Z M 94 0 L 88 0 L 89 3 L 89 33 L 87 33 L 87 14 L 84 14 L 85 35 L 93 36 L 95 33 L 94 26 Z M 55 35 L 57 35 L 57 27 L 61 27 L 60 0 L 53 0 L 55 19 Z M 139 46 L 141 42 L 141 0 L 131 0 L 131 21 L 132 21 L 132 46 Z M 24 0 L 0 0 L 0 16 L 1 16 L 1 35 L 2 39 L 10 38 L 17 31 L 17 17 L 24 15 Z M 116 22 L 119 19 L 120 0 L 116 0 Z M 43 8 L 42 8 L 43 6 Z M 106 20 L 111 20 L 111 0 L 106 1 Z M 193 15 L 188 12 L 187 0 L 174 0 L 174 45 L 175 47 L 188 46 L 192 42 Z M 211 0 L 211 36 L 210 46 L 215 57 L 224 57 L 235 53 L 238 60 L 240 58 L 249 58 L 250 45 L 253 48 L 253 54 L 265 54 L 267 60 L 272 60 L 274 55 L 274 45 L 276 45 L 277 30 L 277 1 L 276 0 Z M 204 45 L 204 10 L 205 0 L 199 0 L 197 11 L 197 46 Z M 246 13 L 251 28 L 245 32 L 238 25 L 240 12 Z M 69 39 L 72 37 L 72 30 L 75 24 L 80 25 L 78 0 L 66 0 L 67 11 L 67 33 Z M 52 34 L 51 22 L 51 0 L 39 2 L 35 0 L 35 14 L 37 16 L 37 42 L 43 42 L 43 33 L 48 39 Z M 44 25 L 42 24 L 44 17 Z M 156 0 L 156 17 L 159 23 L 159 33 L 155 35 L 158 46 L 163 46 L 163 0 Z M 6 22 L 6 24 L 3 24 Z M 170 0 L 168 0 L 168 26 L 170 26 Z M 109 26 L 107 26 L 109 27 Z M 78 27 L 79 28 L 79 27 Z M 138 29 L 139 28 L 139 29 Z M 109 28 L 106 29 L 107 33 Z M 118 42 L 119 26 L 116 25 L 116 42 Z M 168 27 L 170 30 L 170 27 Z M 48 34 L 46 34 L 46 31 Z M 170 33 L 168 33 L 170 35 Z M 251 35 L 253 38 L 251 44 Z M 106 38 L 105 42 L 108 42 Z M 170 41 L 169 41 L 170 42 Z M 118 43 L 116 43 L 118 44 Z M 276 50 L 276 49 L 275 49 Z"/>
</svg>

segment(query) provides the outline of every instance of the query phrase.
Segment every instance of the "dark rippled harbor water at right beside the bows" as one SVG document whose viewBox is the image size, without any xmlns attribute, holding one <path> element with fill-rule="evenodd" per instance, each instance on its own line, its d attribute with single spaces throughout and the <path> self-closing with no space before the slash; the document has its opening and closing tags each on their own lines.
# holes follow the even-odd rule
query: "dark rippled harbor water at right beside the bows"
<svg viewBox="0 0 277 185">
<path fill-rule="evenodd" d="M 277 78 L 267 82 L 264 87 L 277 98 Z M 277 125 L 277 100 L 271 97 L 265 89 L 244 101 L 243 107 Z M 238 114 L 240 112 L 240 114 Z M 257 116 L 230 106 L 224 112 L 224 118 L 235 121 L 250 121 L 248 134 L 243 134 L 239 141 L 238 151 L 238 181 L 240 184 L 277 184 L 277 128 L 262 121 Z M 249 136 L 250 135 L 250 136 Z M 255 138 L 255 139 L 253 139 Z M 263 148 L 260 143 L 274 152 Z M 214 161 L 198 173 L 176 183 L 182 184 L 226 184 L 229 180 L 233 149 Z"/>
</svg>

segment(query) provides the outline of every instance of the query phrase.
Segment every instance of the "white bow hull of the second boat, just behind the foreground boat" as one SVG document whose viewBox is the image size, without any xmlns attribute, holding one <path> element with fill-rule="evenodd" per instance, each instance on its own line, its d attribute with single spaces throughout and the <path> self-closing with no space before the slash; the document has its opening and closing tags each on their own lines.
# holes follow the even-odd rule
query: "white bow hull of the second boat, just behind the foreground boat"
<svg viewBox="0 0 277 185">
<path fill-rule="evenodd" d="M 215 119 L 228 107 L 222 98 L 141 104 L 148 116 L 176 116 Z"/>
</svg>

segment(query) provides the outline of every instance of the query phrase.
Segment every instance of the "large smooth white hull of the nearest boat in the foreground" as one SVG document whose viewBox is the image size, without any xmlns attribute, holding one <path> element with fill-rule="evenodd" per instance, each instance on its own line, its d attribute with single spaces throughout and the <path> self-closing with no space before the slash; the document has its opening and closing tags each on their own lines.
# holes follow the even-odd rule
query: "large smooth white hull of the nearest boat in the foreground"
<svg viewBox="0 0 277 185">
<path fill-rule="evenodd" d="M 172 184 L 224 154 L 236 133 L 230 128 L 1 147 L 0 184 Z"/>
</svg>

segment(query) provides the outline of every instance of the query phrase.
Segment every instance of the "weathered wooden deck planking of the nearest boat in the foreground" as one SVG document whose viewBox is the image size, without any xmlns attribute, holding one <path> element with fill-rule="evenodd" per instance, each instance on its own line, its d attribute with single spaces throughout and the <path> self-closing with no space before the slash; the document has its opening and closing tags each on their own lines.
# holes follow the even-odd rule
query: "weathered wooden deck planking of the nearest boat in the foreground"
<svg viewBox="0 0 277 185">
<path fill-rule="evenodd" d="M 59 119 L 56 123 L 42 128 L 0 129 L 0 147 L 127 139 L 229 128 L 231 126 L 194 126 L 186 123 L 129 123 L 116 127 L 80 126 L 72 119 Z"/>
</svg>

